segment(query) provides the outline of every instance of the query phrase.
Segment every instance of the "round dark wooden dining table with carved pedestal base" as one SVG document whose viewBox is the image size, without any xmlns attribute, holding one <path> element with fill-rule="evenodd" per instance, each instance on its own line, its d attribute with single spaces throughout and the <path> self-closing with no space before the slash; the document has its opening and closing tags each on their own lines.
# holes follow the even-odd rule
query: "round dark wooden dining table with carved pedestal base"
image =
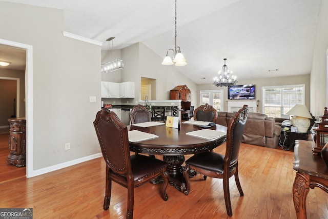
<svg viewBox="0 0 328 219">
<path fill-rule="evenodd" d="M 168 164 L 167 171 L 169 173 L 170 184 L 180 192 L 184 192 L 186 191 L 186 180 L 183 176 L 185 168 L 182 166 L 183 162 L 185 162 L 184 155 L 209 151 L 227 141 L 226 134 L 210 140 L 186 134 L 201 129 L 204 128 L 183 123 L 180 123 L 180 128 L 171 128 L 165 125 L 151 127 L 130 125 L 128 126 L 128 131 L 138 130 L 158 136 L 146 141 L 130 142 L 130 150 L 150 155 L 163 155 L 163 161 Z M 227 127 L 217 124 L 207 129 L 227 133 Z M 190 175 L 194 176 L 195 172 L 190 173 Z M 154 184 L 160 182 L 160 180 L 153 181 Z"/>
</svg>

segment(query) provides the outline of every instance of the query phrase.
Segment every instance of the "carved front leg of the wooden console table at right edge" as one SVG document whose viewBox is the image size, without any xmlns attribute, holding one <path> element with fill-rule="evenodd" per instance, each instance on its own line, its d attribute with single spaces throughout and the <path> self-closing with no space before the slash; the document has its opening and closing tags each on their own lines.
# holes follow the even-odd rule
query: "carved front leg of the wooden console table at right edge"
<svg viewBox="0 0 328 219">
<path fill-rule="evenodd" d="M 310 176 L 297 172 L 293 185 L 293 201 L 298 219 L 306 218 L 306 196 L 310 190 Z"/>
</svg>

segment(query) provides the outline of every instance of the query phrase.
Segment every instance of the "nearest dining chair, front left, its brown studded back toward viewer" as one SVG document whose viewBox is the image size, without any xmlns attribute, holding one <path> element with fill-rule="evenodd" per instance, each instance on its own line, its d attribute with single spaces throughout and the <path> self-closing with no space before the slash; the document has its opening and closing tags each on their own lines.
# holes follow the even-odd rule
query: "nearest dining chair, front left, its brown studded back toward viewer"
<svg viewBox="0 0 328 219">
<path fill-rule="evenodd" d="M 130 155 L 127 126 L 109 109 L 100 110 L 93 124 L 106 162 L 104 210 L 109 209 L 112 181 L 128 188 L 126 218 L 133 218 L 134 187 L 149 182 L 155 177 L 163 178 L 160 194 L 163 200 L 167 201 L 167 164 L 150 156 Z"/>
</svg>

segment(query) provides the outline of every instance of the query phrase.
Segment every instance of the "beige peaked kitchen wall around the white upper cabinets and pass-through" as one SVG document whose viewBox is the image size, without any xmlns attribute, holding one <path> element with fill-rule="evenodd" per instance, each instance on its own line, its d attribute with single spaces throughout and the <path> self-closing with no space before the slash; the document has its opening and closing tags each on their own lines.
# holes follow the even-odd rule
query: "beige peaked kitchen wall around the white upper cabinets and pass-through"
<svg viewBox="0 0 328 219">
<path fill-rule="evenodd" d="M 103 54 L 105 51 L 103 51 Z M 121 50 L 124 69 L 120 70 L 120 81 L 116 76 L 107 73 L 109 82 L 135 82 L 134 99 L 107 99 L 106 103 L 135 105 L 141 99 L 141 77 L 156 79 L 156 99 L 170 99 L 170 90 L 178 85 L 187 85 L 192 92 L 191 104 L 196 104 L 196 84 L 183 75 L 176 66 L 161 65 L 162 57 L 150 50 L 142 43 L 137 43 Z M 103 75 L 104 78 L 104 75 Z M 129 102 L 129 103 L 128 103 Z"/>
</svg>

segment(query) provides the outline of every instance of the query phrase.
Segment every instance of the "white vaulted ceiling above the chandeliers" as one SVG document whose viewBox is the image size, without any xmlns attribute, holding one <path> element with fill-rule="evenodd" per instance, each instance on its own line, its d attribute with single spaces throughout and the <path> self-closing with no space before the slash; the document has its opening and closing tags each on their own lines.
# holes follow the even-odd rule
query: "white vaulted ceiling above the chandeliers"
<svg viewBox="0 0 328 219">
<path fill-rule="evenodd" d="M 174 0 L 5 2 L 63 9 L 63 31 L 103 49 L 111 36 L 114 49 L 142 42 L 164 57 L 174 48 Z M 212 83 L 223 58 L 239 79 L 308 74 L 319 7 L 320 0 L 178 0 L 177 46 L 188 65 L 176 68 L 196 84 Z"/>
</svg>

